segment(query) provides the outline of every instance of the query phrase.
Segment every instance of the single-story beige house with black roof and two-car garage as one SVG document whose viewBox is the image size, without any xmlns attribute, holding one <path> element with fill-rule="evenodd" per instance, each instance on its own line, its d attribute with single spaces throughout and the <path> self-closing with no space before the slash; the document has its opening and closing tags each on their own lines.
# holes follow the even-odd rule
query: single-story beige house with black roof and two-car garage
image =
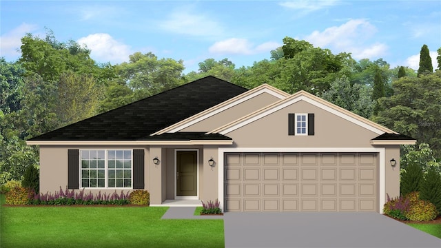
<svg viewBox="0 0 441 248">
<path fill-rule="evenodd" d="M 376 211 L 400 194 L 398 134 L 305 91 L 207 76 L 27 141 L 41 192 L 150 192 L 150 205 Z M 394 166 L 393 166 L 394 165 Z"/>
</svg>

